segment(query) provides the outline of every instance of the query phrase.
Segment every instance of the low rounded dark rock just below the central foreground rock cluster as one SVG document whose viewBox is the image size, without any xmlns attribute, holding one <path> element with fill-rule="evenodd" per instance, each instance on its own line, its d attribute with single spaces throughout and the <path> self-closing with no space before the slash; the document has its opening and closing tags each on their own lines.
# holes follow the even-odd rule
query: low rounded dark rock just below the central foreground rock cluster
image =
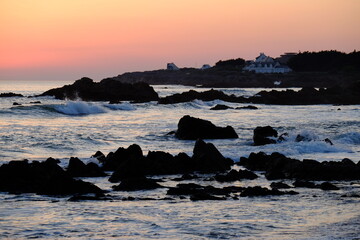
<svg viewBox="0 0 360 240">
<path fill-rule="evenodd" d="M 138 190 L 151 190 L 156 188 L 162 188 L 155 180 L 142 177 L 132 177 L 121 180 L 121 183 L 117 186 L 113 186 L 115 191 L 138 191 Z"/>
</svg>

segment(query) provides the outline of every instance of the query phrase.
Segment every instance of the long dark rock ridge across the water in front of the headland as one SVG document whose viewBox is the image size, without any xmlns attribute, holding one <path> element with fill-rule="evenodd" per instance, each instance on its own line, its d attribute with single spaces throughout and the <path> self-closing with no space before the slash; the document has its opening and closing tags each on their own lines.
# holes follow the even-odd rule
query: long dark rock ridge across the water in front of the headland
<svg viewBox="0 0 360 240">
<path fill-rule="evenodd" d="M 39 96 L 54 96 L 57 99 L 83 101 L 121 101 L 149 102 L 159 104 L 175 104 L 190 102 L 195 99 L 203 101 L 223 100 L 233 103 L 275 104 L 275 105 L 313 105 L 313 104 L 360 104 L 360 81 L 351 84 L 315 89 L 305 87 L 299 91 L 261 91 L 251 97 L 227 95 L 219 90 L 176 93 L 160 98 L 155 90 L 146 83 L 122 83 L 114 79 L 103 80 L 100 83 L 92 79 L 82 78 L 72 85 L 55 88 Z"/>
</svg>

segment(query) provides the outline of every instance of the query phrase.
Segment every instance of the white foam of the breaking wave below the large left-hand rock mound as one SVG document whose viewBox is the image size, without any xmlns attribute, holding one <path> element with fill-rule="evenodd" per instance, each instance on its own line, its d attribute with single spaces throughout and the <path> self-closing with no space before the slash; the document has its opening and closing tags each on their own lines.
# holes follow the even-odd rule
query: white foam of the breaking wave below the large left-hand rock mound
<svg viewBox="0 0 360 240">
<path fill-rule="evenodd" d="M 106 112 L 101 106 L 80 101 L 71 101 L 67 102 L 65 105 L 55 106 L 55 110 L 66 115 L 88 115 Z"/>
</svg>

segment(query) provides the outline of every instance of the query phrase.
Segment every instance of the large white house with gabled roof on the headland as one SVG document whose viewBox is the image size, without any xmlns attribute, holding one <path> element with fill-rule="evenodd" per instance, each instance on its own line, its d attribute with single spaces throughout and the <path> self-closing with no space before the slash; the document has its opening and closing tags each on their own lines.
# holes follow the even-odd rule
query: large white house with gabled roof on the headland
<svg viewBox="0 0 360 240">
<path fill-rule="evenodd" d="M 255 73 L 291 72 L 291 69 L 288 66 L 281 65 L 278 61 L 275 61 L 272 57 L 266 56 L 264 53 L 260 53 L 254 61 L 248 62 L 243 70 Z"/>
</svg>

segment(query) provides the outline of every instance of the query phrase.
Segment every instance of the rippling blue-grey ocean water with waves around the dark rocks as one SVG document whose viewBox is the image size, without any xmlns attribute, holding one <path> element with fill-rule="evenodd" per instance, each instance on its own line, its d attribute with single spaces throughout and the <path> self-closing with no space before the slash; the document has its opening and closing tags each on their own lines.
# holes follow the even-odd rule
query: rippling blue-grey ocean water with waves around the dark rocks
<svg viewBox="0 0 360 240">
<path fill-rule="evenodd" d="M 220 100 L 159 105 L 156 102 L 109 104 L 32 98 L 64 81 L 0 81 L 0 93 L 24 97 L 0 98 L 0 164 L 11 160 L 53 157 L 67 166 L 70 157 L 96 161 L 119 147 L 138 144 L 144 154 L 165 151 L 192 155 L 194 141 L 167 133 L 177 129 L 184 115 L 232 126 L 238 139 L 205 140 L 228 158 L 239 161 L 251 152 L 280 152 L 296 159 L 360 161 L 360 105 L 262 105 L 257 110 L 212 111 L 216 104 L 248 104 Z M 190 89 L 180 85 L 153 86 L 159 96 Z M 251 96 L 263 89 L 219 89 L 227 94 Z M 271 89 L 267 89 L 271 90 Z M 40 101 L 40 103 L 39 103 Z M 14 102 L 20 105 L 14 105 Z M 287 133 L 278 144 L 253 146 L 257 126 Z M 295 141 L 297 135 L 308 141 Z M 330 139 L 333 145 L 324 141 Z M 267 186 L 264 176 L 232 183 Z M 174 176 L 165 176 L 168 179 Z M 84 178 L 110 190 L 107 178 Z M 170 185 L 176 183 L 171 183 Z M 191 182 L 191 181 L 188 181 Z M 285 181 L 291 184 L 291 181 Z M 209 185 L 209 182 L 204 182 Z M 226 184 L 213 183 L 216 186 Z M 339 191 L 296 189 L 293 196 L 240 198 L 226 201 L 139 200 L 69 202 L 68 197 L 0 193 L 0 238 L 39 239 L 359 239 L 360 181 L 335 182 Z M 163 198 L 166 190 L 111 192 L 127 197 Z"/>
</svg>

